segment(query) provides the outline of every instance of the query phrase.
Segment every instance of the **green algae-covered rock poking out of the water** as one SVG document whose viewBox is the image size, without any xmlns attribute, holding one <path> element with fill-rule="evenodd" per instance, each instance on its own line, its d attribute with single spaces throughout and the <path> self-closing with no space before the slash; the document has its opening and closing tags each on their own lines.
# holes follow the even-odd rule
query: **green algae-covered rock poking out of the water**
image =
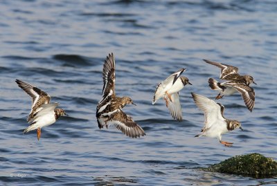
<svg viewBox="0 0 277 186">
<path fill-rule="evenodd" d="M 253 153 L 234 156 L 208 167 L 208 171 L 251 176 L 253 178 L 272 178 L 277 176 L 277 162 L 261 154 Z"/>
</svg>

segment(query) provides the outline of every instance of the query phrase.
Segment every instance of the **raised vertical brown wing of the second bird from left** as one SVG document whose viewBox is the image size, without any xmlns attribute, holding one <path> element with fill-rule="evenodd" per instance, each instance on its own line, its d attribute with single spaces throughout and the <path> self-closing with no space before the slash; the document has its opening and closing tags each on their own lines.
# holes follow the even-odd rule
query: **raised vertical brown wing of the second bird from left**
<svg viewBox="0 0 277 186">
<path fill-rule="evenodd" d="M 114 86 L 116 83 L 116 61 L 114 59 L 114 54 L 111 53 L 107 56 L 105 60 L 102 76 L 103 76 L 103 89 L 102 89 L 102 100 L 105 100 L 107 96 L 116 95 L 114 91 Z"/>
</svg>

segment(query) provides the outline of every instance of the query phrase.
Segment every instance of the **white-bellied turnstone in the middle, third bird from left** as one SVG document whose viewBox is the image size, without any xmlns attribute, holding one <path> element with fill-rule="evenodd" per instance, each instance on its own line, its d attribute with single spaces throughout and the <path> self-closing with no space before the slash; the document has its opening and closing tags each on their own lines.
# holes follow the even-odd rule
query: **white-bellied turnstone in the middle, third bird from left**
<svg viewBox="0 0 277 186">
<path fill-rule="evenodd" d="M 179 91 L 181 91 L 186 84 L 191 84 L 187 77 L 180 76 L 184 71 L 186 71 L 186 68 L 181 68 L 179 71 L 166 78 L 166 80 L 160 82 L 156 88 L 152 102 L 152 104 L 155 104 L 157 100 L 163 97 L 163 100 L 166 101 L 166 107 L 168 107 L 170 114 L 177 121 L 182 120 Z"/>
</svg>

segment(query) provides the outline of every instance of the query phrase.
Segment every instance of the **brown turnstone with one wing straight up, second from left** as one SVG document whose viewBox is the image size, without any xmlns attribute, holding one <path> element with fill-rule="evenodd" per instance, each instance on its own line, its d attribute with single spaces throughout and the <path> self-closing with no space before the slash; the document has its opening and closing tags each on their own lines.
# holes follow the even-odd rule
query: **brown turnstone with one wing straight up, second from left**
<svg viewBox="0 0 277 186">
<path fill-rule="evenodd" d="M 144 136 L 145 132 L 136 124 L 132 117 L 122 111 L 126 104 L 134 104 L 130 97 L 117 97 L 114 91 L 116 82 L 116 62 L 114 54 L 111 53 L 105 60 L 102 77 L 104 86 L 102 89 L 102 100 L 96 107 L 96 118 L 99 129 L 104 126 L 108 128 L 110 124 L 125 133 L 127 136 L 137 138 Z M 136 105 L 136 104 L 134 104 Z"/>
</svg>

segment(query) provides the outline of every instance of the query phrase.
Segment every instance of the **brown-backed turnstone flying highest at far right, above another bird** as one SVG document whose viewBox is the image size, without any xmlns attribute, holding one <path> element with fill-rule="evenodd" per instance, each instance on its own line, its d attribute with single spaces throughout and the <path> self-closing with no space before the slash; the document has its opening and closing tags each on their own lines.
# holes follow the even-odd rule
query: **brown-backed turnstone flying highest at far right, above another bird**
<svg viewBox="0 0 277 186">
<path fill-rule="evenodd" d="M 253 77 L 251 75 L 238 74 L 238 67 L 235 66 L 212 62 L 207 59 L 204 59 L 204 61 L 221 68 L 220 79 L 226 80 L 226 82 L 217 82 L 213 78 L 208 79 L 208 84 L 211 89 L 220 91 L 215 99 L 218 100 L 224 95 L 232 95 L 233 93 L 239 92 L 242 95 L 242 99 L 244 100 L 247 109 L 253 111 L 255 92 L 253 88 L 249 86 L 252 82 L 253 84 L 256 84 L 253 81 Z"/>
</svg>

